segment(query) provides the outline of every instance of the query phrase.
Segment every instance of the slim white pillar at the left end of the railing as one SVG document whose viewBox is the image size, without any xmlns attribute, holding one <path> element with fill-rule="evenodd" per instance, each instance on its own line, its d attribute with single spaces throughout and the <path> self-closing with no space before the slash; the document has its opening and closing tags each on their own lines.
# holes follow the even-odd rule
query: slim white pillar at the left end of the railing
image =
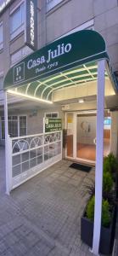
<svg viewBox="0 0 118 256">
<path fill-rule="evenodd" d="M 4 92 L 4 125 L 5 125 L 5 170 L 6 170 L 6 194 L 9 195 L 9 173 L 8 173 L 8 101 L 7 91 Z"/>
</svg>

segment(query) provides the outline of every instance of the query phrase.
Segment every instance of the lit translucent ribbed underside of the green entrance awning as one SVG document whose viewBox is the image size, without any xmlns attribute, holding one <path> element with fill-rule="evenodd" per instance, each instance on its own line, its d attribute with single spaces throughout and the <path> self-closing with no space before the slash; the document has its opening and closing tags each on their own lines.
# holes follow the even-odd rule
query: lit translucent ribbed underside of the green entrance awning
<svg viewBox="0 0 118 256">
<path fill-rule="evenodd" d="M 98 65 L 95 61 L 86 65 L 72 68 L 66 72 L 54 74 L 47 79 L 40 79 L 29 84 L 12 89 L 15 92 L 39 97 L 51 101 L 54 90 L 70 87 L 72 85 L 84 84 L 90 81 L 96 81 L 98 76 Z M 108 77 L 107 73 L 105 76 Z"/>
</svg>

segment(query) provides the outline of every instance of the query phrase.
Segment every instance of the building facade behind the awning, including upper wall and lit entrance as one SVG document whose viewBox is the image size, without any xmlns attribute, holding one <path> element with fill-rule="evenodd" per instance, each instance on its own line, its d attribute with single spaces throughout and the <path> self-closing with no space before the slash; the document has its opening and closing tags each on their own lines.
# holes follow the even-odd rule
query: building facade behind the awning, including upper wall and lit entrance
<svg viewBox="0 0 118 256">
<path fill-rule="evenodd" d="M 26 0 L 0 1 L 0 143 L 4 143 L 3 78 L 8 69 L 33 52 L 25 44 Z M 34 1 L 34 3 L 36 3 Z M 99 32 L 107 46 L 113 72 L 118 74 L 118 1 L 117 0 L 37 0 L 37 49 L 65 35 L 90 29 Z M 78 45 L 79 49 L 79 45 Z M 85 81 L 84 81 L 85 83 Z M 93 83 L 53 91 L 53 107 L 23 98 L 8 98 L 8 131 L 11 137 L 42 133 L 43 118 L 61 118 L 67 132 L 64 155 L 95 161 L 96 87 Z M 83 102 L 82 102 L 83 101 Z M 82 102 L 82 104 L 81 104 Z M 75 136 L 76 131 L 76 136 Z M 89 136 L 87 136 L 89 132 Z M 91 134 L 91 135 L 90 135 Z M 104 114 L 104 148 L 115 155 L 118 149 L 118 97 L 110 86 L 106 89 Z M 93 151 L 79 152 L 87 144 Z M 76 149 L 74 149 L 76 148 Z"/>
</svg>

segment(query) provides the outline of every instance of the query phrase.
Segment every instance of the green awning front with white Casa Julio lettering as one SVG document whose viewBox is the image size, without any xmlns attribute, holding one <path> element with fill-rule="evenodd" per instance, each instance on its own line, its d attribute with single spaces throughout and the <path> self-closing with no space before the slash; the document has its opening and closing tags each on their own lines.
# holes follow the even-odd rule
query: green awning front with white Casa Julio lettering
<svg viewBox="0 0 118 256">
<path fill-rule="evenodd" d="M 11 67 L 4 89 L 19 87 L 89 61 L 108 58 L 104 38 L 98 32 L 75 32 L 38 49 Z"/>
</svg>

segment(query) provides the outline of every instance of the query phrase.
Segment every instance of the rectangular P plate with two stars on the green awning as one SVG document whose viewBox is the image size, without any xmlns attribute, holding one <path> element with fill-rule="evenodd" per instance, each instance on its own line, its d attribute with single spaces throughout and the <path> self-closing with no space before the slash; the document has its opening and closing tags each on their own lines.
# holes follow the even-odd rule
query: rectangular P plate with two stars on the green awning
<svg viewBox="0 0 118 256">
<path fill-rule="evenodd" d="M 22 62 L 14 67 L 14 84 L 25 79 L 25 63 Z"/>
</svg>

